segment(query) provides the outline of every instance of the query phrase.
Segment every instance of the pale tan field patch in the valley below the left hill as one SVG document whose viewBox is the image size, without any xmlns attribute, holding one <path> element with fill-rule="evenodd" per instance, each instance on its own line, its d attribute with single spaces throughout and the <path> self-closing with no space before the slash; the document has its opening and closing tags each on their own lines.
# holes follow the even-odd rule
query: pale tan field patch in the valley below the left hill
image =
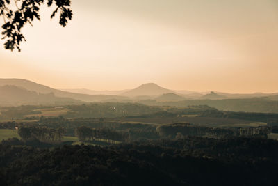
<svg viewBox="0 0 278 186">
<path fill-rule="evenodd" d="M 58 117 L 60 115 L 65 115 L 67 114 L 67 111 L 70 111 L 68 109 L 65 108 L 49 108 L 49 109 L 36 109 L 34 111 L 40 111 L 40 114 L 28 114 L 26 115 L 26 117 L 40 117 L 40 116 L 44 116 L 44 117 Z"/>
</svg>

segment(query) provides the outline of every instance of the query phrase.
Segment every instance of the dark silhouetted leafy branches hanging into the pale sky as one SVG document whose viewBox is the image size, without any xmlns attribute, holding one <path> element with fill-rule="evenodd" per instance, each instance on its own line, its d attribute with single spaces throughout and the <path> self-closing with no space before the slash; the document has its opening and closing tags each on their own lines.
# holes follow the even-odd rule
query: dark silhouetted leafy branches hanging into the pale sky
<svg viewBox="0 0 278 186">
<path fill-rule="evenodd" d="M 26 41 L 21 31 L 25 24 L 31 24 L 33 20 L 40 20 L 39 10 L 44 0 L 0 0 L 0 16 L 3 17 L 2 39 L 5 49 L 13 51 L 15 47 L 20 52 L 20 42 Z M 68 20 L 72 20 L 72 10 L 70 0 L 47 0 L 47 6 L 55 3 L 56 9 L 51 14 L 51 18 L 60 13 L 60 25 L 66 26 Z"/>
</svg>

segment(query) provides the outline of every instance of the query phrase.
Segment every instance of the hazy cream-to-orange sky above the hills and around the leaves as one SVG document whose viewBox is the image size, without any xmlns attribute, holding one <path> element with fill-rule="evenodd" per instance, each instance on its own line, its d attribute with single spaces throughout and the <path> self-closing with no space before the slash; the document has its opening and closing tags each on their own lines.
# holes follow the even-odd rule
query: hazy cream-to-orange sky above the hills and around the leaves
<svg viewBox="0 0 278 186">
<path fill-rule="evenodd" d="M 276 0 L 72 0 L 65 28 L 51 10 L 43 6 L 41 21 L 24 28 L 22 52 L 0 40 L 0 78 L 92 90 L 154 82 L 278 92 Z"/>
</svg>

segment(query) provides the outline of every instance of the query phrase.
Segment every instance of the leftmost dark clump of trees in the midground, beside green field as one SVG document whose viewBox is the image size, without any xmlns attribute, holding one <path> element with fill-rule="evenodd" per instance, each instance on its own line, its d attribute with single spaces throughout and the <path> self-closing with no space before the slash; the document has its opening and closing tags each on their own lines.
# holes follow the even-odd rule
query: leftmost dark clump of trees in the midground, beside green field
<svg viewBox="0 0 278 186">
<path fill-rule="evenodd" d="M 65 134 L 65 129 L 63 127 L 57 129 L 48 127 L 19 127 L 18 134 L 24 140 L 61 141 L 63 134 Z"/>
</svg>

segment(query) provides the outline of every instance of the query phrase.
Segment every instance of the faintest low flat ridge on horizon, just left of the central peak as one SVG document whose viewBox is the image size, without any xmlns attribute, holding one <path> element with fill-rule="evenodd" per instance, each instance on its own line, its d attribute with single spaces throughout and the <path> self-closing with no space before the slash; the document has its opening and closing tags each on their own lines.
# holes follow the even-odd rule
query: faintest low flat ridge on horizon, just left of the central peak
<svg viewBox="0 0 278 186">
<path fill-rule="evenodd" d="M 94 91 L 86 88 L 76 88 L 76 89 L 60 89 L 61 91 L 66 91 L 70 93 L 82 93 L 89 95 L 120 95 L 129 90 L 120 90 L 120 91 Z"/>
</svg>

